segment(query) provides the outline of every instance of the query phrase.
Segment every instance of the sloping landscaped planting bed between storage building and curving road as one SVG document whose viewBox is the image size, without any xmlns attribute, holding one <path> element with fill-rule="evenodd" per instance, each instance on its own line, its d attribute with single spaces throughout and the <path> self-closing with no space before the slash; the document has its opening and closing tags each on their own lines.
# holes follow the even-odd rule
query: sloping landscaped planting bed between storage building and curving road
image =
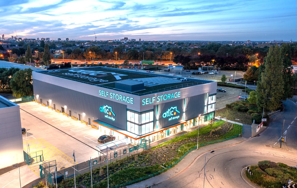
<svg viewBox="0 0 297 188">
<path fill-rule="evenodd" d="M 210 136 L 210 131 L 212 134 Z M 217 121 L 199 129 L 199 144 L 222 140 L 241 133 L 242 127 L 236 124 Z M 190 149 L 197 146 L 198 130 L 186 133 L 172 140 L 159 144 L 151 149 L 123 158 L 108 165 L 110 187 L 124 184 L 129 181 L 166 171 L 168 166 L 174 164 Z M 107 187 L 107 166 L 102 167 L 104 174 L 99 175 L 100 168 L 92 170 L 93 187 Z M 143 179 L 142 179 L 143 180 Z M 139 180 L 140 181 L 140 180 Z M 59 187 L 73 187 L 74 179 L 67 179 Z M 91 173 L 76 176 L 77 187 L 91 187 Z"/>
</svg>

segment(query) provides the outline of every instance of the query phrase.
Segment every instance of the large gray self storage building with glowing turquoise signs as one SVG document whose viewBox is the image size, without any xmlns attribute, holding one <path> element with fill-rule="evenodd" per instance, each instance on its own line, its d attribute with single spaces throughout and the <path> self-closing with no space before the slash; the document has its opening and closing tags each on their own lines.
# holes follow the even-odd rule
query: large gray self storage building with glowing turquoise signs
<svg viewBox="0 0 297 188">
<path fill-rule="evenodd" d="M 34 98 L 106 134 L 151 142 L 214 118 L 217 82 L 108 67 L 32 72 Z"/>
</svg>

